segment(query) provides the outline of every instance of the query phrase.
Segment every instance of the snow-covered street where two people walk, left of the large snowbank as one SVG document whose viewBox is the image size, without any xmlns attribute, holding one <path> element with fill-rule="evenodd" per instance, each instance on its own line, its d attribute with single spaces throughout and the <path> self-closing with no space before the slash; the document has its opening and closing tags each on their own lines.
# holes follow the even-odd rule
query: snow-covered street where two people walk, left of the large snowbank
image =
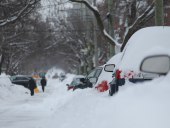
<svg viewBox="0 0 170 128">
<path fill-rule="evenodd" d="M 72 76 L 65 83 L 71 79 Z M 24 89 L 21 91 L 25 91 L 25 94 L 20 94 L 11 100 L 8 97 L 1 99 L 3 104 L 0 107 L 0 127 L 38 128 L 39 125 L 43 126 L 55 111 L 65 104 L 64 100 L 69 100 L 70 94 L 67 93 L 65 83 L 59 82 L 58 79 L 51 79 L 48 81 L 45 93 L 39 87 L 40 93 L 31 97 L 30 92 Z"/>
</svg>

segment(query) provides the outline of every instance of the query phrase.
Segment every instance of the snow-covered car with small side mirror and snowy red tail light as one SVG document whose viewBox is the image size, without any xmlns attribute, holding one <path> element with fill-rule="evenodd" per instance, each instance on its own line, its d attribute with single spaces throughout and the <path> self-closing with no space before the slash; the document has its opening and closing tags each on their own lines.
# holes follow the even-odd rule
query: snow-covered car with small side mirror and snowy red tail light
<svg viewBox="0 0 170 128">
<path fill-rule="evenodd" d="M 120 61 L 121 56 L 122 53 L 118 53 L 111 57 L 106 64 L 92 70 L 85 78 L 85 86 L 90 87 L 90 83 L 92 83 L 93 87 L 99 92 L 107 91 L 109 89 L 109 82 L 112 80 L 112 72 L 115 65 Z M 80 87 L 85 88 L 82 86 Z M 76 88 L 78 88 L 78 86 Z"/>
</svg>

